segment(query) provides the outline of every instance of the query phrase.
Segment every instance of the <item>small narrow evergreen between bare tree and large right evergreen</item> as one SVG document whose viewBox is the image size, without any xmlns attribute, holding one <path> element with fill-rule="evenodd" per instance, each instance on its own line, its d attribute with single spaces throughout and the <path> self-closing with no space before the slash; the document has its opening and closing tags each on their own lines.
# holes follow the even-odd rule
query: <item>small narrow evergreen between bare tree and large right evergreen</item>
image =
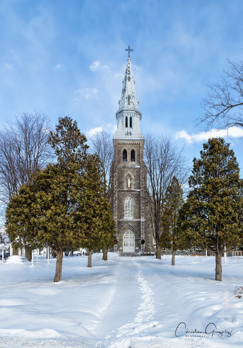
<svg viewBox="0 0 243 348">
<path fill-rule="evenodd" d="M 183 190 L 181 189 L 179 180 L 176 176 L 173 176 L 162 203 L 161 235 L 159 238 L 161 248 L 171 250 L 171 264 L 173 266 L 175 265 L 176 250 L 183 250 L 186 247 L 186 242 L 182 236 L 179 235 L 177 226 L 179 210 L 182 208 L 183 204 Z"/>
</svg>

